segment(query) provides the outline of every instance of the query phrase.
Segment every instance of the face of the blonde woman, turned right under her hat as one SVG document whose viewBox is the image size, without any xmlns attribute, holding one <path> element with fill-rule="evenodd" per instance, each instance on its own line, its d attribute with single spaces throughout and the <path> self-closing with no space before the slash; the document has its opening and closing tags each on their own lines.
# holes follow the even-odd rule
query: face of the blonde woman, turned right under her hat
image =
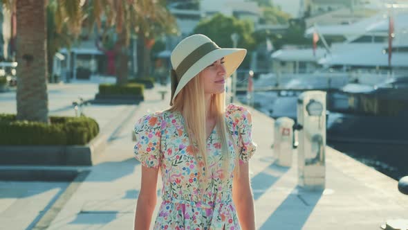
<svg viewBox="0 0 408 230">
<path fill-rule="evenodd" d="M 204 94 L 222 94 L 225 91 L 224 57 L 210 64 L 203 71 Z"/>
</svg>

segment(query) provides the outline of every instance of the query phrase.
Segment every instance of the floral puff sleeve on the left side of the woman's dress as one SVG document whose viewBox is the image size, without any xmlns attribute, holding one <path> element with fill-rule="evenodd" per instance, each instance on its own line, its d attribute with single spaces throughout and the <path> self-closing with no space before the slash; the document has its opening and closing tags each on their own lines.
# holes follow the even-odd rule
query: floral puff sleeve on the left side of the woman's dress
<svg viewBox="0 0 408 230">
<path fill-rule="evenodd" d="M 162 118 L 159 112 L 142 116 L 134 125 L 136 145 L 133 148 L 136 159 L 142 166 L 158 168 L 162 161 L 160 139 Z"/>
</svg>

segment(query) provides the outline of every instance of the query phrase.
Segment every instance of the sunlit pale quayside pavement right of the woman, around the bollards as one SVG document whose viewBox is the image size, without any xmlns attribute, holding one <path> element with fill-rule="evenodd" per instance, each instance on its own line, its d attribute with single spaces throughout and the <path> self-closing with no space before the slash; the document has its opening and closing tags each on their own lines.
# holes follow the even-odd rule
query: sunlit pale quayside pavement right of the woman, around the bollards
<svg viewBox="0 0 408 230">
<path fill-rule="evenodd" d="M 408 219 L 408 196 L 397 182 L 341 152 L 326 148 L 326 189 L 297 186 L 297 151 L 292 167 L 279 167 L 270 145 L 273 121 L 252 113 L 259 148 L 250 161 L 259 229 L 379 229 L 385 220 Z"/>
</svg>

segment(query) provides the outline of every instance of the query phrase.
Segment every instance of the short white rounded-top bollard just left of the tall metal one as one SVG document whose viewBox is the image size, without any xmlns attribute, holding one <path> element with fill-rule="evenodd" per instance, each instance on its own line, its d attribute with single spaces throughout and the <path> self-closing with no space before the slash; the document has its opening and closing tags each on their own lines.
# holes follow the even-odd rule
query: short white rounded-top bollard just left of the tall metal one
<svg viewBox="0 0 408 230">
<path fill-rule="evenodd" d="M 279 166 L 292 166 L 294 124 L 295 121 L 288 117 L 277 118 L 275 121 L 273 152 Z"/>
</svg>

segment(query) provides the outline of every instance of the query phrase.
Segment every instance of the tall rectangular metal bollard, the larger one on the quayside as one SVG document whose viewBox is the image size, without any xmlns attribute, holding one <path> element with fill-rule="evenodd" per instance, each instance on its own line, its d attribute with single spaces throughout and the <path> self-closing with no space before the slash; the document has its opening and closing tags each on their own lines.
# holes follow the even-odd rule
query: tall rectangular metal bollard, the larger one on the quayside
<svg viewBox="0 0 408 230">
<path fill-rule="evenodd" d="M 326 180 L 326 92 L 306 91 L 297 100 L 299 186 L 324 189 Z"/>
</svg>

